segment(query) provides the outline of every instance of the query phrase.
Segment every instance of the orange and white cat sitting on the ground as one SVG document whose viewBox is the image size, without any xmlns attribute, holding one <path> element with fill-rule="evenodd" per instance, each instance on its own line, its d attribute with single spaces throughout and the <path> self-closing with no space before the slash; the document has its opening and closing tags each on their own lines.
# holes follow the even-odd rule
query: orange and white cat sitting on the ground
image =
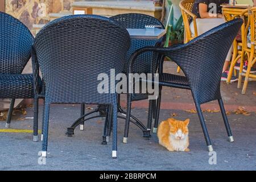
<svg viewBox="0 0 256 182">
<path fill-rule="evenodd" d="M 159 144 L 166 147 L 168 151 L 189 151 L 188 139 L 189 119 L 179 121 L 169 118 L 162 121 L 158 127 Z"/>
</svg>

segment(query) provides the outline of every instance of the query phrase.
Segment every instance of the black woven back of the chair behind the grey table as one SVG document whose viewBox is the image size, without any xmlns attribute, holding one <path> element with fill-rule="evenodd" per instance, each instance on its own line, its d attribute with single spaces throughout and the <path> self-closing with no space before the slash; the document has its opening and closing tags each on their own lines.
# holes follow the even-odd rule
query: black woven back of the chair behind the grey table
<svg viewBox="0 0 256 182">
<path fill-rule="evenodd" d="M 110 17 L 115 22 L 118 22 L 124 28 L 145 28 L 146 25 L 155 25 L 164 29 L 164 25 L 156 18 L 150 15 L 129 13 L 120 14 Z M 162 42 L 160 40 L 131 40 L 131 47 L 127 53 L 126 60 L 128 61 L 131 54 L 137 51 L 139 48 L 146 46 L 156 46 L 156 44 Z M 154 61 L 153 61 L 154 62 Z M 126 62 L 127 63 L 127 62 Z M 151 73 L 152 69 L 156 66 L 152 65 L 152 52 L 146 52 L 140 55 L 134 63 L 134 73 Z M 124 72 L 127 71 L 127 64 L 125 64 Z"/>
</svg>

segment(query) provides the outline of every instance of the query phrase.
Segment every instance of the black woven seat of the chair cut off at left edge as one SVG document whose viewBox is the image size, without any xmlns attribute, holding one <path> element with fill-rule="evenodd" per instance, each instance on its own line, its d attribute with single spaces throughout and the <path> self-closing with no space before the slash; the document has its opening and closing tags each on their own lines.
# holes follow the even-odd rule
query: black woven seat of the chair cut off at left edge
<svg viewBox="0 0 256 182">
<path fill-rule="evenodd" d="M 33 98 L 32 74 L 0 74 L 0 98 Z"/>
</svg>

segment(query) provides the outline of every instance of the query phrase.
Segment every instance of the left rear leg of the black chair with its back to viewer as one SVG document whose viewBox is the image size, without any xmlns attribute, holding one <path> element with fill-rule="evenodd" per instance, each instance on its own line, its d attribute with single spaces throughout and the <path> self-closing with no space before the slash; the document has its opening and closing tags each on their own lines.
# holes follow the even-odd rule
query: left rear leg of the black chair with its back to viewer
<svg viewBox="0 0 256 182">
<path fill-rule="evenodd" d="M 48 129 L 49 129 L 49 104 L 44 104 L 44 128 L 43 128 L 43 142 L 42 142 L 42 157 L 46 158 L 48 147 Z"/>
</svg>

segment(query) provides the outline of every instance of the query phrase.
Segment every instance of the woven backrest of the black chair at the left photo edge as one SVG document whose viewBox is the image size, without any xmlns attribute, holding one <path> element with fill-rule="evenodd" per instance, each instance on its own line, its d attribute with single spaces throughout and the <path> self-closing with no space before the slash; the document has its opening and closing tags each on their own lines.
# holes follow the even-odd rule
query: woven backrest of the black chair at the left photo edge
<svg viewBox="0 0 256 182">
<path fill-rule="evenodd" d="M 0 73 L 22 73 L 30 59 L 33 41 L 22 22 L 0 12 Z"/>
</svg>

